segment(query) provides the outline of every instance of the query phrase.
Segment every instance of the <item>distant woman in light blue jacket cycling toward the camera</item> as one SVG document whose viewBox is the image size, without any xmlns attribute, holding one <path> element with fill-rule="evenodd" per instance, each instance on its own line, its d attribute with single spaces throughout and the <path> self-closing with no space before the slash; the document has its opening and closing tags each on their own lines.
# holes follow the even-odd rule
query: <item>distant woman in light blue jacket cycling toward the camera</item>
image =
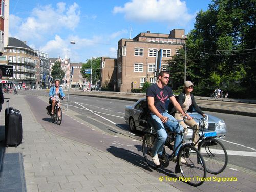
<svg viewBox="0 0 256 192">
<path fill-rule="evenodd" d="M 50 92 L 49 92 L 49 97 L 50 97 L 50 104 L 52 105 L 52 112 L 51 114 L 53 115 L 53 109 L 55 106 L 55 103 L 57 100 L 59 100 L 60 97 L 65 98 L 65 94 L 62 90 L 61 87 L 59 87 L 59 80 L 55 80 L 55 86 L 51 87 Z"/>
</svg>

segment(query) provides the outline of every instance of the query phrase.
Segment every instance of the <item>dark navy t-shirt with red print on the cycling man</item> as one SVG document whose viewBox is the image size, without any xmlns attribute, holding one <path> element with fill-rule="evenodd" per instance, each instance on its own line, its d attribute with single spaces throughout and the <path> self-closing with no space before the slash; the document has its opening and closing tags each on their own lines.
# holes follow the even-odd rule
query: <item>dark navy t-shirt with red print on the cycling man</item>
<svg viewBox="0 0 256 192">
<path fill-rule="evenodd" d="M 159 88 L 157 84 L 153 84 L 147 88 L 146 91 L 146 97 L 154 97 L 154 105 L 159 113 L 166 111 L 165 101 L 173 95 L 173 91 L 170 87 L 164 86 L 164 88 Z"/>
</svg>

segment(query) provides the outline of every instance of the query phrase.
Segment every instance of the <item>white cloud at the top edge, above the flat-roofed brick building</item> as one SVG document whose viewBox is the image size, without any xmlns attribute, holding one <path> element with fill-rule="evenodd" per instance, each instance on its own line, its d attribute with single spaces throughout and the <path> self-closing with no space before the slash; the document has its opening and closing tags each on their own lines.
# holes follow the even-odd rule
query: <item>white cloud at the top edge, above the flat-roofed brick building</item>
<svg viewBox="0 0 256 192">
<path fill-rule="evenodd" d="M 114 7 L 113 13 L 123 13 L 127 20 L 137 22 L 187 23 L 195 17 L 189 14 L 186 2 L 181 0 L 131 0 L 123 7 Z"/>
</svg>

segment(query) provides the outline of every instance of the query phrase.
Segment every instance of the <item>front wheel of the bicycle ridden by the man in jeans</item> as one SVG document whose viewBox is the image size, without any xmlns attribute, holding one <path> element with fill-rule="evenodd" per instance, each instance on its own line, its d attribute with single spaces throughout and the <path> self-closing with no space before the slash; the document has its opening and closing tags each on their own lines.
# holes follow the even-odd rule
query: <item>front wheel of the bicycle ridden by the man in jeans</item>
<svg viewBox="0 0 256 192">
<path fill-rule="evenodd" d="M 200 152 L 194 146 L 185 145 L 179 151 L 178 160 L 184 181 L 192 186 L 202 185 L 206 178 L 206 165 Z"/>
</svg>

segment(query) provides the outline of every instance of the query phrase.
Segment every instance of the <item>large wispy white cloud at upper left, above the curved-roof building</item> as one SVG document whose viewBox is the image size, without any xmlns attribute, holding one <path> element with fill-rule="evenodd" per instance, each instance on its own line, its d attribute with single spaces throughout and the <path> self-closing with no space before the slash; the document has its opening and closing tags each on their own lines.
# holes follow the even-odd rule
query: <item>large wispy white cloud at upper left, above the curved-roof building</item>
<svg viewBox="0 0 256 192">
<path fill-rule="evenodd" d="M 31 15 L 22 20 L 17 16 L 10 16 L 11 33 L 27 41 L 40 42 L 49 39 L 50 34 L 60 33 L 61 30 L 74 30 L 80 22 L 80 10 L 76 3 L 66 7 L 65 3 L 37 6 Z"/>
</svg>

